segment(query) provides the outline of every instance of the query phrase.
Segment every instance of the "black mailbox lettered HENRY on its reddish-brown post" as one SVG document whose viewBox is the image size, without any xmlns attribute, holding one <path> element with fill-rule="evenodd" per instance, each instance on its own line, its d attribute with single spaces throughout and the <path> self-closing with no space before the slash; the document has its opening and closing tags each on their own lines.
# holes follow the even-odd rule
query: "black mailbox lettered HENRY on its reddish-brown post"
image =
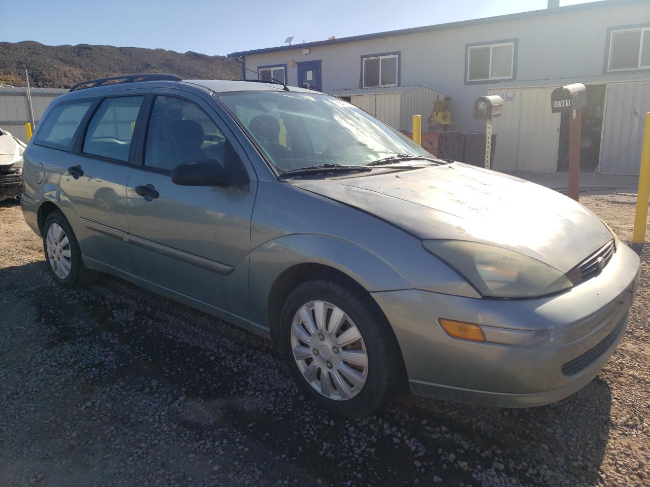
<svg viewBox="0 0 650 487">
<path fill-rule="evenodd" d="M 573 83 L 551 93 L 551 113 L 569 112 L 569 197 L 580 198 L 580 130 L 582 110 L 587 106 L 584 84 Z"/>
</svg>

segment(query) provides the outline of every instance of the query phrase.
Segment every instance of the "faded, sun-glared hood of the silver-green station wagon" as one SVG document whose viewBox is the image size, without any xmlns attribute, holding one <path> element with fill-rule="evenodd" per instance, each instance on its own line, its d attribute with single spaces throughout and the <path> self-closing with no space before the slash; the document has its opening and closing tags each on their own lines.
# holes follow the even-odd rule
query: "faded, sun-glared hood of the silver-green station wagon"
<svg viewBox="0 0 650 487">
<path fill-rule="evenodd" d="M 460 162 L 342 179 L 294 179 L 292 184 L 372 214 L 422 240 L 491 243 L 563 272 L 613 238 L 573 199 Z"/>
</svg>

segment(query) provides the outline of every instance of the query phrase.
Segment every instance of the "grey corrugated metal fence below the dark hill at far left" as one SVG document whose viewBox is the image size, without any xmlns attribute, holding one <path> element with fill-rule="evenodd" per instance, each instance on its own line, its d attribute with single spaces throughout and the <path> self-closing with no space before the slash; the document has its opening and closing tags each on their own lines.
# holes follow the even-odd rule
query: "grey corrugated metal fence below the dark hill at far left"
<svg viewBox="0 0 650 487">
<path fill-rule="evenodd" d="M 51 101 L 64 93 L 68 93 L 68 90 L 32 88 L 32 108 L 36 123 Z M 11 132 L 23 142 L 27 142 L 27 132 L 25 131 L 25 122 L 27 121 L 29 121 L 27 88 L 0 86 L 0 127 Z"/>
</svg>

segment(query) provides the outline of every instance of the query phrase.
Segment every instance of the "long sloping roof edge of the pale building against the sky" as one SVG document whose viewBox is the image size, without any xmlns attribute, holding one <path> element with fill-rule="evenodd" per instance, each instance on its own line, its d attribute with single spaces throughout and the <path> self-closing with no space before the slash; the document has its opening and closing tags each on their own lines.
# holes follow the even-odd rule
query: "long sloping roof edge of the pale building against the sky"
<svg viewBox="0 0 650 487">
<path fill-rule="evenodd" d="M 547 15 L 564 14 L 567 12 L 579 12 L 580 10 L 590 10 L 591 8 L 605 8 L 610 6 L 630 5 L 634 3 L 644 3 L 647 0 L 599 0 L 589 3 L 578 3 L 575 5 L 566 5 L 556 8 L 542 8 L 541 10 L 529 10 L 528 12 L 517 12 L 515 14 L 504 14 L 494 17 L 484 17 L 480 19 L 459 20 L 455 22 L 439 23 L 435 25 L 424 25 L 422 27 L 410 27 L 409 29 L 398 29 L 396 31 L 375 32 L 373 34 L 360 34 L 358 36 L 341 37 L 339 39 L 322 40 L 314 42 L 304 42 L 303 44 L 279 45 L 278 47 L 265 47 L 263 49 L 252 49 L 250 51 L 237 51 L 227 55 L 229 58 L 239 58 L 253 54 L 273 53 L 277 51 L 289 51 L 291 49 L 301 49 L 305 47 L 317 47 L 322 45 L 345 44 L 347 42 L 356 42 L 360 40 L 380 39 L 384 37 L 404 36 L 407 34 L 420 34 L 421 32 L 446 31 L 448 29 L 458 29 L 460 27 L 472 27 L 474 25 L 483 25 L 487 23 L 497 23 L 502 21 L 512 21 L 543 17 Z"/>
</svg>

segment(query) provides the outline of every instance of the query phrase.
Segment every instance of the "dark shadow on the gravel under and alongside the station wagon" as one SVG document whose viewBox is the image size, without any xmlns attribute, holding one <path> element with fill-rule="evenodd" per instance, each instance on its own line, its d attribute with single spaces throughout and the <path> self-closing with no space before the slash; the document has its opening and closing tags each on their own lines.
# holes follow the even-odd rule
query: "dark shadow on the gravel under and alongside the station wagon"
<svg viewBox="0 0 650 487">
<path fill-rule="evenodd" d="M 598 481 L 612 400 L 601 379 L 538 408 L 479 408 L 404 395 L 381 416 L 342 419 L 300 395 L 275 345 L 233 325 L 113 277 L 72 293 L 51 281 L 44 262 L 6 268 L 3 275 L 34 296 L 35 325 L 49 334 L 51 353 L 88 337 L 96 346 L 117 342 L 123 353 L 118 378 L 167 384 L 305 479 L 476 486 L 501 477 L 542 485 L 561 483 L 552 475 L 562 472 L 571 485 Z M 104 383 L 83 386 L 92 393 Z M 210 423 L 175 420 L 199 438 L 216 434 Z M 247 460 L 259 458 L 250 453 Z"/>
</svg>

